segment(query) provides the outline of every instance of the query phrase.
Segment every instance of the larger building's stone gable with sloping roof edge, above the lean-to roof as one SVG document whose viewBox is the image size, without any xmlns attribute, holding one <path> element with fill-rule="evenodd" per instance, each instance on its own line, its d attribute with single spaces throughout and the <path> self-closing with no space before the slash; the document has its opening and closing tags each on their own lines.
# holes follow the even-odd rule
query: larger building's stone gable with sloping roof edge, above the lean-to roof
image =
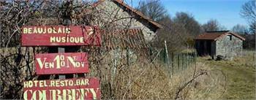
<svg viewBox="0 0 256 100">
<path fill-rule="evenodd" d="M 99 13 L 100 18 L 96 19 L 97 24 L 110 22 L 118 26 L 118 29 L 139 28 L 143 31 L 146 42 L 151 42 L 157 30 L 162 26 L 143 15 L 142 12 L 125 4 L 123 0 L 99 0 L 93 7 L 94 12 Z"/>
</svg>

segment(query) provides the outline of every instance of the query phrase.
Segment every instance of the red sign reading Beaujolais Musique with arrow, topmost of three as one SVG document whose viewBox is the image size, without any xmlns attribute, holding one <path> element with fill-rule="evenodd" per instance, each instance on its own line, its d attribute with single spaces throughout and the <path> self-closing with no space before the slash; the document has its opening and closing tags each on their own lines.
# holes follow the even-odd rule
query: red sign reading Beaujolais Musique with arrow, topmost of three
<svg viewBox="0 0 256 100">
<path fill-rule="evenodd" d="M 22 46 L 100 45 L 99 28 L 91 26 L 24 26 Z"/>
</svg>

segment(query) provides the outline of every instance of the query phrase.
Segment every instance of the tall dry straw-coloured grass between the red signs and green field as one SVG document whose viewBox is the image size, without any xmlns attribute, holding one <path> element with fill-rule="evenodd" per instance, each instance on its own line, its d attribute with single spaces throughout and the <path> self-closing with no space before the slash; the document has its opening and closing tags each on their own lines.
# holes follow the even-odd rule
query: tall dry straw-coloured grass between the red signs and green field
<svg viewBox="0 0 256 100">
<path fill-rule="evenodd" d="M 225 91 L 225 76 L 201 63 L 197 64 L 196 72 L 195 66 L 191 66 L 172 76 L 161 64 L 127 66 L 116 74 L 112 97 L 103 99 L 175 99 L 178 88 L 192 80 L 194 72 L 198 74 L 202 70 L 207 74 L 189 83 L 178 99 L 217 99 Z M 103 93 L 105 88 L 102 87 Z"/>
</svg>

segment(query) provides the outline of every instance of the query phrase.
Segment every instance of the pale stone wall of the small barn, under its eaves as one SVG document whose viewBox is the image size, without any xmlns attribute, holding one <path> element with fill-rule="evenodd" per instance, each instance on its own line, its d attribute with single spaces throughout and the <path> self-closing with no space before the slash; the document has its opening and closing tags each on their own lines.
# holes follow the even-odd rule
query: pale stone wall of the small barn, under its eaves
<svg viewBox="0 0 256 100">
<path fill-rule="evenodd" d="M 230 40 L 231 36 L 231 40 Z M 243 50 L 243 40 L 233 35 L 223 36 L 216 42 L 216 55 L 233 57 Z"/>
</svg>

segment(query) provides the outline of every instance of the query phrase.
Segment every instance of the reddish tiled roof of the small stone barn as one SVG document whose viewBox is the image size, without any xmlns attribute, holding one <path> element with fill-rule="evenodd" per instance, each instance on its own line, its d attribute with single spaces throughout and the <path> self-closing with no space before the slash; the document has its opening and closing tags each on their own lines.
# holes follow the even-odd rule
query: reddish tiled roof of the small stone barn
<svg viewBox="0 0 256 100">
<path fill-rule="evenodd" d="M 208 40 L 216 41 L 220 37 L 226 36 L 226 35 L 233 35 L 233 36 L 238 37 L 239 39 L 245 40 L 244 37 L 239 36 L 238 34 L 235 34 L 231 31 L 207 31 L 204 34 L 200 34 L 195 39 L 208 39 Z"/>
</svg>

